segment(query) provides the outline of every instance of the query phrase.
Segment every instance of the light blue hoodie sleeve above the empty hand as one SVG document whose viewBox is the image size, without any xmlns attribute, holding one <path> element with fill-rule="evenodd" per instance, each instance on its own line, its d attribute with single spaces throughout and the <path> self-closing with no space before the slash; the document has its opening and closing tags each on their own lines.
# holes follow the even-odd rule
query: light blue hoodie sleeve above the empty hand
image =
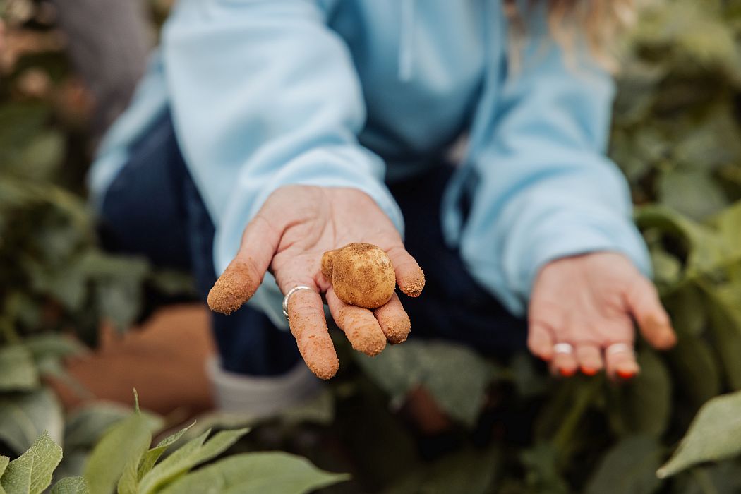
<svg viewBox="0 0 741 494">
<path fill-rule="evenodd" d="M 479 111 L 491 116 L 462 172 L 471 196 L 462 256 L 517 315 L 556 258 L 608 250 L 651 270 L 627 182 L 605 157 L 614 83 L 583 53 L 565 56 L 547 32 L 530 34 L 519 70 L 500 73 L 496 94 L 482 99 L 491 106 Z"/>
</svg>

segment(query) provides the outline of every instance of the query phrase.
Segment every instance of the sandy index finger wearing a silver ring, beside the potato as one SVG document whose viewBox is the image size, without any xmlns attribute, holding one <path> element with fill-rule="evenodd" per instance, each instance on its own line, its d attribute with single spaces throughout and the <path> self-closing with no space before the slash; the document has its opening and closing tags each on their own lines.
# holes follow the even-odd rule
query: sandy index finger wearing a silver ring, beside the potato
<svg viewBox="0 0 741 494">
<path fill-rule="evenodd" d="M 327 330 L 324 304 L 319 293 L 298 290 L 288 299 L 288 324 L 299 353 L 318 378 L 329 379 L 339 369 L 339 359 Z"/>
</svg>

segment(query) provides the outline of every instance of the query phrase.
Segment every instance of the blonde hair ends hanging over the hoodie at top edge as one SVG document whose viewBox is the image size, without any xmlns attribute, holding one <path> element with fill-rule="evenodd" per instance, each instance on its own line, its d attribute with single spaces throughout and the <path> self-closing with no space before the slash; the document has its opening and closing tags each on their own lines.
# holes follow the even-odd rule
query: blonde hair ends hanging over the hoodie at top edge
<svg viewBox="0 0 741 494">
<path fill-rule="evenodd" d="M 522 46 L 527 36 L 528 13 L 520 13 L 516 0 L 505 0 L 505 14 L 511 25 L 512 50 Z M 635 17 L 633 0 L 530 0 L 530 7 L 547 5 L 548 28 L 568 53 L 574 53 L 577 40 L 585 41 L 594 59 L 608 70 L 617 70 L 616 39 Z"/>
</svg>

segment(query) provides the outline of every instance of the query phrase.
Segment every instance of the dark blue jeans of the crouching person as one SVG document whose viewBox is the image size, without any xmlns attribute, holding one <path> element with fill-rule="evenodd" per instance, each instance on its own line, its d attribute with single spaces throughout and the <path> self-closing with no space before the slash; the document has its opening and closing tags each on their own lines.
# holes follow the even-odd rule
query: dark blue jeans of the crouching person
<svg viewBox="0 0 741 494">
<path fill-rule="evenodd" d="M 512 316 L 471 278 L 459 253 L 445 246 L 440 201 L 453 168 L 445 163 L 425 176 L 390 185 L 406 221 L 405 246 L 425 271 L 419 298 L 402 296 L 412 336 L 470 344 L 505 355 L 525 348 L 525 321 Z M 179 150 L 169 115 L 146 133 L 103 201 L 104 245 L 153 263 L 190 270 L 205 299 L 216 281 L 214 227 Z M 242 307 L 231 316 L 212 314 L 222 366 L 234 373 L 278 375 L 299 360 L 295 341 L 267 316 Z"/>
</svg>

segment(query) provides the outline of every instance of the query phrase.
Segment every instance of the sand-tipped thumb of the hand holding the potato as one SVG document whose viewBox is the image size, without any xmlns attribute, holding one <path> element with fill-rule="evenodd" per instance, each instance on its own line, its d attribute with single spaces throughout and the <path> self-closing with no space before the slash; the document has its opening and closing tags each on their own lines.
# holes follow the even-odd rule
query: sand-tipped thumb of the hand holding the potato
<svg viewBox="0 0 741 494">
<path fill-rule="evenodd" d="M 208 307 L 215 312 L 230 314 L 242 307 L 262 283 L 273 260 L 282 232 L 261 213 L 247 224 L 239 251 L 208 293 Z"/>
</svg>

